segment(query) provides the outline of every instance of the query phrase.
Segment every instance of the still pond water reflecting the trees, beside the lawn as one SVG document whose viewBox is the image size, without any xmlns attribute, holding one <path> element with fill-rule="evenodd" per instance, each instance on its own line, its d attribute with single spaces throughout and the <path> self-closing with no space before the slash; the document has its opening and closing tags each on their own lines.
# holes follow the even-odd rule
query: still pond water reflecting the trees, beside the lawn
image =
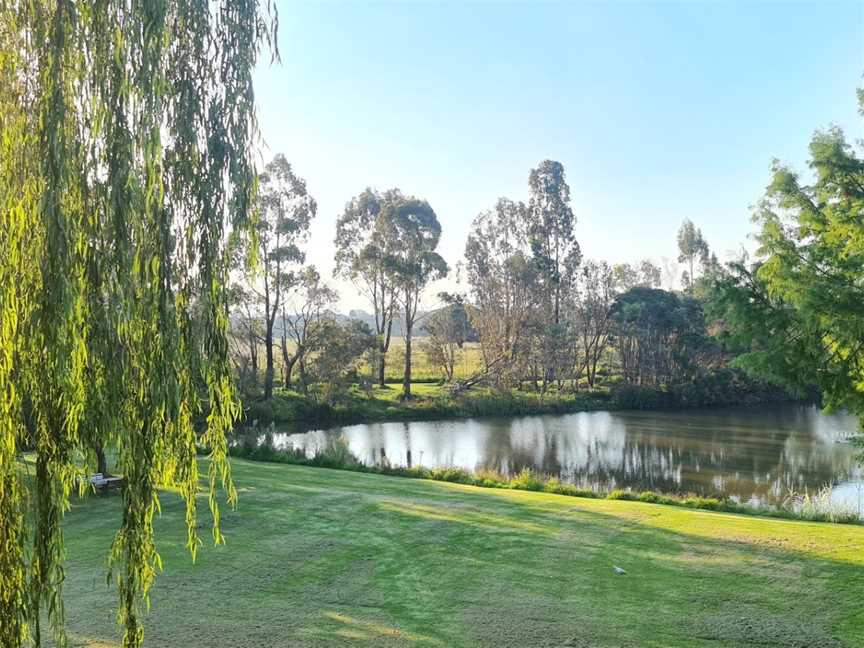
<svg viewBox="0 0 864 648">
<path fill-rule="evenodd" d="M 528 467 L 600 490 L 722 494 L 754 504 L 776 505 L 791 491 L 828 487 L 832 501 L 857 508 L 862 473 L 848 443 L 856 431 L 851 416 L 782 404 L 277 429 L 271 442 L 307 456 L 344 442 L 366 464 L 504 475 Z"/>
</svg>

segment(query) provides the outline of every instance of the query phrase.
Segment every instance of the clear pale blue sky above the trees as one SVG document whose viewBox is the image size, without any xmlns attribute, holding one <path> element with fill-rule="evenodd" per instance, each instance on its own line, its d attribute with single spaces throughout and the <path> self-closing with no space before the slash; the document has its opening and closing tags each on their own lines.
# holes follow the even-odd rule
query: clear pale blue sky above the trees
<svg viewBox="0 0 864 648">
<path fill-rule="evenodd" d="M 815 129 L 864 134 L 864 2 L 279 11 L 282 64 L 256 74 L 263 156 L 307 179 L 308 258 L 327 276 L 336 218 L 366 186 L 427 199 L 452 265 L 474 216 L 526 199 L 545 158 L 565 166 L 586 257 L 673 258 L 690 218 L 724 258 L 747 245 L 772 158 L 803 169 Z"/>
</svg>

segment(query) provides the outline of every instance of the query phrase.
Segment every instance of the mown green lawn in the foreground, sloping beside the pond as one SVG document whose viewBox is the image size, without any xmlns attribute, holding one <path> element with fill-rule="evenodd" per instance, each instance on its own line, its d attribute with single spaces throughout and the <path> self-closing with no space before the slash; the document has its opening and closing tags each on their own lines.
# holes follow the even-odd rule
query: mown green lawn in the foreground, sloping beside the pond
<svg viewBox="0 0 864 648">
<path fill-rule="evenodd" d="M 864 646 L 864 527 L 239 460 L 234 476 L 228 544 L 196 564 L 163 497 L 145 645 Z M 117 496 L 67 516 L 73 646 L 118 644 L 119 516 Z"/>
</svg>

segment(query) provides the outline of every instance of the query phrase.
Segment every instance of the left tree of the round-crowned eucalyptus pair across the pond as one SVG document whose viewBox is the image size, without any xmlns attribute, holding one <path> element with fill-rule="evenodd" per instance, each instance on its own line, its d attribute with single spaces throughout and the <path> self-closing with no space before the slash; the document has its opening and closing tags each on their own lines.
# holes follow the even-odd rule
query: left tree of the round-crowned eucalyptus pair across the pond
<svg viewBox="0 0 864 648">
<path fill-rule="evenodd" d="M 384 193 L 366 189 L 351 199 L 336 223 L 336 267 L 333 274 L 353 283 L 372 305 L 380 387 L 384 387 L 385 361 L 398 297 L 388 266 L 395 242 L 390 216 L 393 206 L 404 200 L 398 189 Z"/>
</svg>

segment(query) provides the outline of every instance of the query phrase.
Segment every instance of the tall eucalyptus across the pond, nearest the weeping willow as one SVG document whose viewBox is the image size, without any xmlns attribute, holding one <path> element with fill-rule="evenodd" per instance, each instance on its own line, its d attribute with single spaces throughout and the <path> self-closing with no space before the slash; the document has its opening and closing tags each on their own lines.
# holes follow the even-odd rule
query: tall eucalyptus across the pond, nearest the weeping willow
<svg viewBox="0 0 864 648">
<path fill-rule="evenodd" d="M 253 268 L 248 281 L 264 311 L 264 398 L 272 398 L 276 317 L 299 280 L 306 258 L 300 245 L 308 239 L 318 205 L 284 155 L 264 167 L 259 182 L 258 223 L 250 243 L 257 248 L 261 272 Z"/>
</svg>

